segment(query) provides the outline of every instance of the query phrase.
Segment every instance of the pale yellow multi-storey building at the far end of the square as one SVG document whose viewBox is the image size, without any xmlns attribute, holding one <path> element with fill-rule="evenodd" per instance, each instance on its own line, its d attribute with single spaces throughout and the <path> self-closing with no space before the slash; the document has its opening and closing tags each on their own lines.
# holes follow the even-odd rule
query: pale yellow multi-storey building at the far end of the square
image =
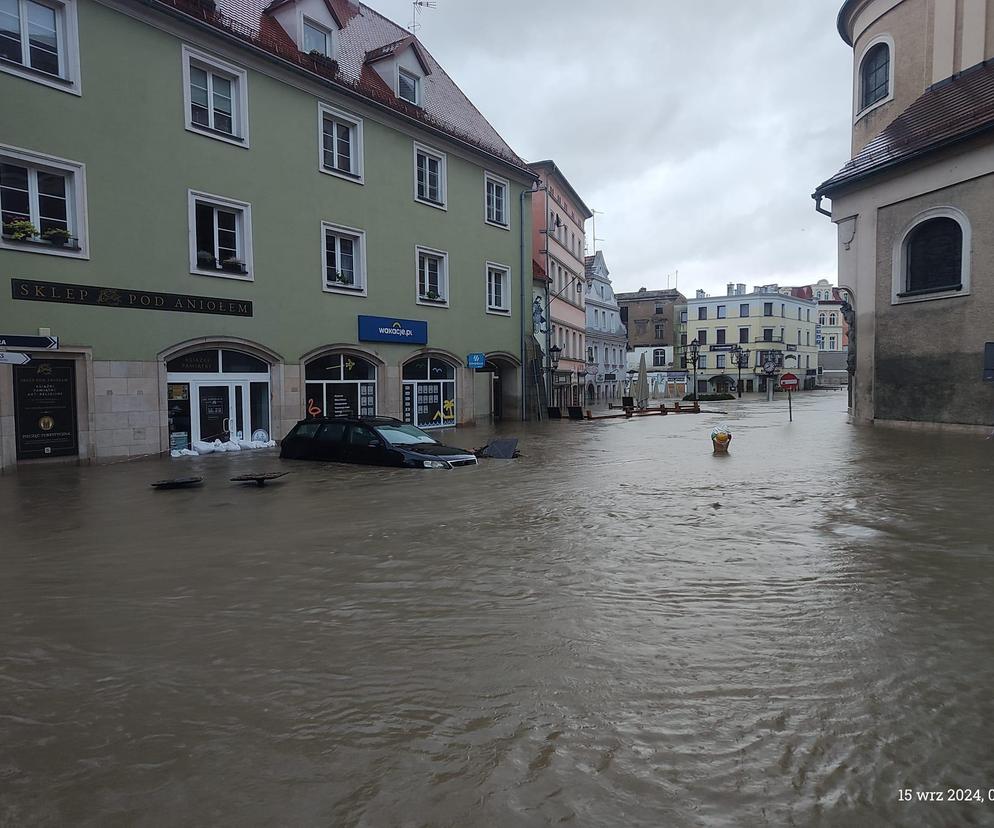
<svg viewBox="0 0 994 828">
<path fill-rule="evenodd" d="M 681 322 L 686 322 L 686 333 L 681 332 L 680 344 L 696 341 L 699 346 L 698 394 L 733 392 L 736 387 L 765 391 L 768 362 L 796 374 L 802 388 L 814 388 L 817 382 L 816 301 L 781 294 L 776 285 L 746 293 L 745 285 L 729 284 L 725 296 L 697 291 L 687 300 Z M 681 364 L 693 371 L 686 347 Z"/>
</svg>

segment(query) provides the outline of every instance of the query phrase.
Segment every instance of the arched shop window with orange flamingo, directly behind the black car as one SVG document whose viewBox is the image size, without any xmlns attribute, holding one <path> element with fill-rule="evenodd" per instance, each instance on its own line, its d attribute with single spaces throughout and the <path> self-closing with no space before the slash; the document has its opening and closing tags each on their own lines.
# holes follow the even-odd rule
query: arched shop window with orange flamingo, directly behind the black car
<svg viewBox="0 0 994 828">
<path fill-rule="evenodd" d="M 376 365 L 356 354 L 333 353 L 304 366 L 305 416 L 376 414 Z"/>
</svg>

